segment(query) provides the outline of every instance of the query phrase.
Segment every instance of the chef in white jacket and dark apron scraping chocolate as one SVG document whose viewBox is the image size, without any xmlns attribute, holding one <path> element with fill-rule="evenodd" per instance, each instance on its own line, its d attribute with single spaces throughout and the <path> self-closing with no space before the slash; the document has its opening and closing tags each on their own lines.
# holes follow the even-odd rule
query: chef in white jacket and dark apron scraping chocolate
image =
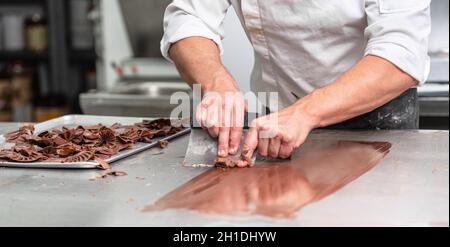
<svg viewBox="0 0 450 247">
<path fill-rule="evenodd" d="M 230 6 L 254 48 L 252 91 L 279 93 L 278 107 L 267 104 L 271 114 L 252 122 L 247 157 L 288 158 L 316 128 L 418 128 L 430 0 L 174 0 L 162 54 L 189 84 L 223 96 L 204 97 L 196 108 L 198 122 L 218 138 L 219 156 L 238 152 L 246 110 L 220 59 Z"/>
</svg>

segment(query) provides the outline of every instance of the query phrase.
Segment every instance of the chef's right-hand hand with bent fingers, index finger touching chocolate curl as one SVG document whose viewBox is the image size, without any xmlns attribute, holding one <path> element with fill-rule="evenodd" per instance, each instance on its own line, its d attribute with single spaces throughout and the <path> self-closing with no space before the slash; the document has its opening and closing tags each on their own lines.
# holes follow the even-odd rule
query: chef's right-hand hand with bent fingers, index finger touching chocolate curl
<svg viewBox="0 0 450 247">
<path fill-rule="evenodd" d="M 261 156 L 287 159 L 316 127 L 315 119 L 292 105 L 255 119 L 245 137 L 242 155 L 250 159 L 256 149 Z M 240 162 L 240 166 L 247 166 Z"/>
</svg>

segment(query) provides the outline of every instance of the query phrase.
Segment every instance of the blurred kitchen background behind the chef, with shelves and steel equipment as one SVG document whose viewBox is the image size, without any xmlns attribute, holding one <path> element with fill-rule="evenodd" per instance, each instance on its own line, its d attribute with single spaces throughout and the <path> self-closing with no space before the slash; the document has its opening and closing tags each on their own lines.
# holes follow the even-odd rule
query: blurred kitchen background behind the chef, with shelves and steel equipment
<svg viewBox="0 0 450 247">
<path fill-rule="evenodd" d="M 0 122 L 64 114 L 168 116 L 190 92 L 159 53 L 170 0 L 0 0 Z M 421 128 L 448 129 L 449 1 L 432 1 L 432 71 L 419 89 Z M 225 21 L 224 64 L 249 91 L 253 53 Z"/>
</svg>

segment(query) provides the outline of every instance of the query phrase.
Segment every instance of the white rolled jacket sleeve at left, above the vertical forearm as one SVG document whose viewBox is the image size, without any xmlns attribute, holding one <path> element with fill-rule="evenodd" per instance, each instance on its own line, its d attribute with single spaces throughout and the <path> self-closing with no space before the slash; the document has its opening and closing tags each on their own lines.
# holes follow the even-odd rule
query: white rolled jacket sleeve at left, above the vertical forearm
<svg viewBox="0 0 450 247">
<path fill-rule="evenodd" d="M 170 46 L 194 36 L 211 39 L 222 54 L 223 20 L 230 5 L 229 0 L 174 0 L 164 14 L 162 55 L 170 61 Z"/>
</svg>

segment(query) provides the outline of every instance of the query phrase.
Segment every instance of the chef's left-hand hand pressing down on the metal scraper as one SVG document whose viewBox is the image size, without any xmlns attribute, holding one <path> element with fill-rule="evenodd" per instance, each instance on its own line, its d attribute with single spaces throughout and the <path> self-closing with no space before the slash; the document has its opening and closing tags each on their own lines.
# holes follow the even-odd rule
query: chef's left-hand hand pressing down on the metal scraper
<svg viewBox="0 0 450 247">
<path fill-rule="evenodd" d="M 218 138 L 218 156 L 226 157 L 239 150 L 246 108 L 234 81 L 225 80 L 205 90 L 196 118 L 203 129 Z"/>
</svg>

